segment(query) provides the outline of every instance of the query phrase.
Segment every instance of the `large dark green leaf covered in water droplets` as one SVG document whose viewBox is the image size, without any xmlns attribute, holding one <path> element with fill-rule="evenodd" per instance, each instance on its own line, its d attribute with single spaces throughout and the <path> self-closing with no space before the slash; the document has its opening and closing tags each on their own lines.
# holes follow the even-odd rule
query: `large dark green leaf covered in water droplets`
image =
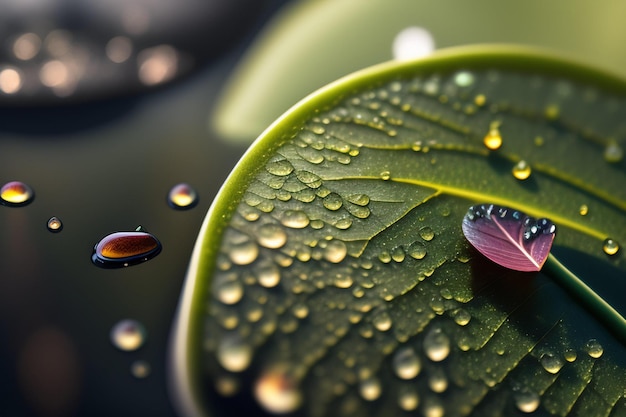
<svg viewBox="0 0 626 417">
<path fill-rule="evenodd" d="M 515 48 L 373 67 L 302 101 L 200 232 L 175 333 L 183 407 L 626 415 L 619 328 L 557 264 L 506 270 L 461 232 L 475 203 L 550 218 L 552 253 L 624 315 L 626 251 L 603 245 L 626 242 L 625 109 L 623 80 Z"/>
</svg>

